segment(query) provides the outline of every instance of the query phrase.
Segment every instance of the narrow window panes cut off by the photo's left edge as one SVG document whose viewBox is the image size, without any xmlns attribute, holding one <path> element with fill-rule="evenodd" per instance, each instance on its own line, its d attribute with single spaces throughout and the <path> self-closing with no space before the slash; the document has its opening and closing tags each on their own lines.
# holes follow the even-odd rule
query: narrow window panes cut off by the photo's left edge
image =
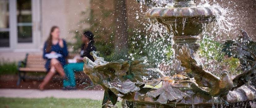
<svg viewBox="0 0 256 108">
<path fill-rule="evenodd" d="M 9 0 L 0 0 L 0 47 L 10 47 Z"/>
</svg>

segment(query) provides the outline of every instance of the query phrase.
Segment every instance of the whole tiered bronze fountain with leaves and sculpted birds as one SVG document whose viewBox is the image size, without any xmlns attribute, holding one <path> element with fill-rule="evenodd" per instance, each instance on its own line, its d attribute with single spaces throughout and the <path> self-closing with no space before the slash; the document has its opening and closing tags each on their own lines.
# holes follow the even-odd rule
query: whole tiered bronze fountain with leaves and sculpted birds
<svg viewBox="0 0 256 108">
<path fill-rule="evenodd" d="M 99 52 L 91 52 L 95 62 L 85 57 L 84 72 L 105 89 L 102 107 L 115 107 L 118 97 L 124 108 L 250 107 L 249 102 L 256 101 L 255 85 L 248 84 L 256 74 L 256 43 L 245 31 L 239 39 L 224 40 L 223 44 L 226 55 L 239 58 L 243 73 L 231 76 L 222 70 L 221 77 L 217 77 L 200 61 L 198 35 L 218 15 L 218 8 L 195 6 L 194 0 L 174 0 L 173 7 L 146 12 L 147 18 L 156 19 L 174 35 L 172 67 L 178 74 L 171 77 L 159 69 L 146 69 L 146 57 L 107 62 L 97 56 Z"/>
</svg>

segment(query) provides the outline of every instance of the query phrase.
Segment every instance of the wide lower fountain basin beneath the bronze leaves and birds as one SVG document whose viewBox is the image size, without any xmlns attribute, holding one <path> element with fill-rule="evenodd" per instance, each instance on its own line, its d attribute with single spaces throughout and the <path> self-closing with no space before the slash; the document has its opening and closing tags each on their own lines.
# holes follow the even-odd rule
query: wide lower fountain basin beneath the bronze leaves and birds
<svg viewBox="0 0 256 108">
<path fill-rule="evenodd" d="M 190 91 L 193 93 L 193 91 Z M 194 93 L 191 96 L 187 96 L 183 98 L 181 101 L 171 101 L 166 104 L 159 103 L 150 98 L 147 94 L 143 94 L 142 92 L 138 91 L 136 93 L 132 93 L 128 96 L 130 99 L 125 99 L 123 104 L 125 106 L 129 106 L 129 108 L 169 108 L 175 107 L 176 108 L 189 108 L 192 106 L 197 106 L 199 108 L 212 108 L 213 104 L 215 106 L 226 106 L 228 107 L 225 102 L 220 97 L 212 98 L 208 94 L 204 93 Z M 133 98 L 131 98 L 133 97 Z M 252 86 L 241 86 L 234 91 L 229 91 L 227 97 L 223 97 L 229 103 L 229 107 L 237 106 L 241 107 L 242 105 L 246 105 L 245 103 L 255 102 L 256 100 L 256 89 Z M 239 103 L 242 103 L 241 105 Z M 131 106 L 132 105 L 132 106 Z"/>
</svg>

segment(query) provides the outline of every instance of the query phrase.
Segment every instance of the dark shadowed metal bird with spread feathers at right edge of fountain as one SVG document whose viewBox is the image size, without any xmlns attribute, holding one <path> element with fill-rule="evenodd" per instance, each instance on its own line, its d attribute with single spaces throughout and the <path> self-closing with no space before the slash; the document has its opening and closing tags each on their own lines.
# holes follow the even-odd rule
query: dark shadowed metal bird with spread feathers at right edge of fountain
<svg viewBox="0 0 256 108">
<path fill-rule="evenodd" d="M 224 41 L 222 52 L 225 52 L 225 56 L 238 58 L 242 65 L 243 73 L 233 77 L 233 89 L 244 84 L 248 85 L 252 78 L 256 80 L 256 42 L 249 37 L 245 30 L 240 29 L 240 33 L 241 35 L 238 35 L 239 38 L 236 40 L 222 40 Z M 256 86 L 255 83 L 252 85 Z"/>
</svg>

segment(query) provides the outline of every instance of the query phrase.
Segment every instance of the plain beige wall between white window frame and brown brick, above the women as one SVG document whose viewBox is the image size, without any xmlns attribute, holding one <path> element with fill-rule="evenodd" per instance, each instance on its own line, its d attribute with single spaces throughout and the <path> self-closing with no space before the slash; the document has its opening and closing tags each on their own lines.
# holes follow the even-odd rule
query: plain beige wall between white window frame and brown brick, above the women
<svg viewBox="0 0 256 108">
<path fill-rule="evenodd" d="M 49 36 L 52 26 L 61 29 L 61 38 L 74 42 L 70 32 L 78 28 L 89 28 L 88 23 L 80 20 L 90 16 L 90 0 L 42 0 L 42 44 Z M 82 15 L 82 11 L 86 14 Z"/>
</svg>

